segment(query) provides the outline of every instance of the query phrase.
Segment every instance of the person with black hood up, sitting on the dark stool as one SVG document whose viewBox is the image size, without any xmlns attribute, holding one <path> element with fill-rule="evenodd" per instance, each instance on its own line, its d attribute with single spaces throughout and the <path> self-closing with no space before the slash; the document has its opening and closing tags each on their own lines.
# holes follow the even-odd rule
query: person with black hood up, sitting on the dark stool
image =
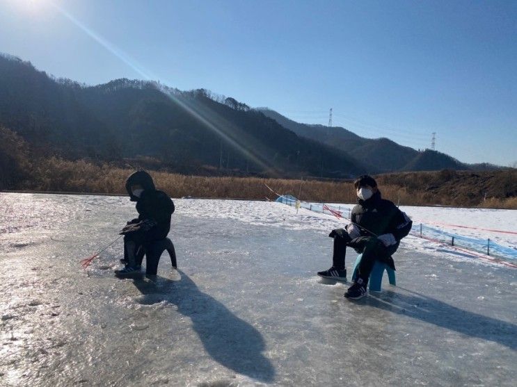
<svg viewBox="0 0 517 387">
<path fill-rule="evenodd" d="M 166 238 L 170 230 L 170 216 L 174 212 L 174 203 L 165 192 L 154 187 L 148 172 L 134 172 L 127 178 L 126 190 L 131 201 L 136 201 L 138 217 L 127 222 L 120 231 L 124 235 L 124 262 L 122 270 L 116 270 L 118 276 L 130 276 L 140 272 L 136 263 L 136 252 L 145 242 Z"/>
</svg>

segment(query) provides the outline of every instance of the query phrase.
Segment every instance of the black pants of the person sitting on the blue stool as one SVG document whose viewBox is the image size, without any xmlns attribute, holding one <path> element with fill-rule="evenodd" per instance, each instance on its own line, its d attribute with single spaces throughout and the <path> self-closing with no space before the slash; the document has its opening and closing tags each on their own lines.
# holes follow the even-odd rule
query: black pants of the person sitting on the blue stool
<svg viewBox="0 0 517 387">
<path fill-rule="evenodd" d="M 391 257 L 397 251 L 399 244 L 385 247 L 383 242 L 374 236 L 360 236 L 351 241 L 340 236 L 334 237 L 334 252 L 332 256 L 333 266 L 338 270 L 344 270 L 344 258 L 347 253 L 347 246 L 353 247 L 357 252 L 363 253 L 363 258 L 357 268 L 357 275 L 368 282 L 369 274 L 374 268 L 375 261 L 386 263 L 395 270 L 395 263 Z"/>
</svg>

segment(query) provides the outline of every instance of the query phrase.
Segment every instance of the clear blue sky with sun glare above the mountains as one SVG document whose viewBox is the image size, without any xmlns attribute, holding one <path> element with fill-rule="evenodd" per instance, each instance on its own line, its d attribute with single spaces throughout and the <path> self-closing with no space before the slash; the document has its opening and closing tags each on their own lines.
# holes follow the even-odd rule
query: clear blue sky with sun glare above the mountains
<svg viewBox="0 0 517 387">
<path fill-rule="evenodd" d="M 1 0 L 0 51 L 91 85 L 207 88 L 298 122 L 517 162 L 517 1 Z"/>
</svg>

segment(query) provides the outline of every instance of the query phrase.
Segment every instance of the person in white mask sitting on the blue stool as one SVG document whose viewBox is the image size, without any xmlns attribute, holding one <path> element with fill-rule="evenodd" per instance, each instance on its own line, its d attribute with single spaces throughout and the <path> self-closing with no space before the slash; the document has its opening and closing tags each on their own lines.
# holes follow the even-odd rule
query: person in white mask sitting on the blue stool
<svg viewBox="0 0 517 387">
<path fill-rule="evenodd" d="M 411 231 L 413 222 L 392 201 L 381 198 L 381 191 L 372 176 L 360 176 L 353 186 L 358 204 L 352 209 L 351 223 L 346 229 L 335 229 L 330 233 L 329 236 L 334 238 L 333 265 L 318 275 L 347 281 L 344 258 L 347 246 L 353 247 L 363 257 L 358 265 L 356 281 L 344 297 L 359 299 L 367 294 L 366 286 L 375 261 L 386 263 L 395 270 L 392 254 L 397 251 L 400 240 Z"/>
</svg>

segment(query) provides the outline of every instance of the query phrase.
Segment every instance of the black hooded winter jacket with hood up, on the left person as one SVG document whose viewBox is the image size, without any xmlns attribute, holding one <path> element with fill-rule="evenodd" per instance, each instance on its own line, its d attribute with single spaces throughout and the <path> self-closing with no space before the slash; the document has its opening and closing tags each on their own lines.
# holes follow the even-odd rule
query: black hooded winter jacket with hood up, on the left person
<svg viewBox="0 0 517 387">
<path fill-rule="evenodd" d="M 134 196 L 131 191 L 131 187 L 136 184 L 143 188 L 140 197 Z M 170 216 L 175 209 L 170 197 L 165 192 L 154 188 L 152 177 L 145 171 L 134 172 L 129 176 L 126 181 L 126 190 L 131 201 L 136 201 L 136 211 L 138 211 L 138 219 L 131 222 L 150 220 L 154 226 L 146 231 L 145 239 L 159 240 L 165 238 L 170 230 Z"/>
</svg>

